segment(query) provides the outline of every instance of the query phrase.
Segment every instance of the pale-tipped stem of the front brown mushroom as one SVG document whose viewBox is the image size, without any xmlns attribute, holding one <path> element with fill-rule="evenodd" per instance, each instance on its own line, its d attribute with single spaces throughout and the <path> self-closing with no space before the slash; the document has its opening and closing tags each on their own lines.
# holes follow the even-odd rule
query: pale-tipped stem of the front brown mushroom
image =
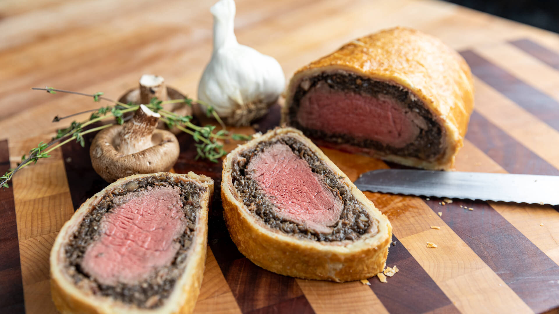
<svg viewBox="0 0 559 314">
<path fill-rule="evenodd" d="M 151 135 L 160 117 L 159 113 L 140 104 L 132 119 L 122 125 L 120 136 L 116 137 L 114 143 L 116 150 L 122 155 L 130 155 L 153 146 Z"/>
</svg>

